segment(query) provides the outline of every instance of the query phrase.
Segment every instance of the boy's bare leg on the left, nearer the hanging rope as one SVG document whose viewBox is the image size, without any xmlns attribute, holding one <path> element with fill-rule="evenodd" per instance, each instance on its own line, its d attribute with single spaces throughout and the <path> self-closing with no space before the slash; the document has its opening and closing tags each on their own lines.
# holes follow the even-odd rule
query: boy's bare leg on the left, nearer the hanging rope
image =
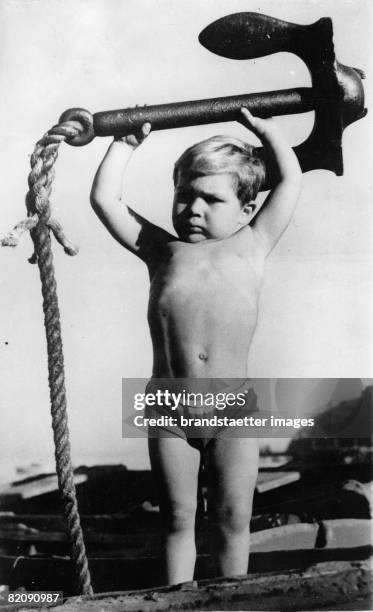
<svg viewBox="0 0 373 612">
<path fill-rule="evenodd" d="M 200 453 L 182 438 L 149 438 L 149 455 L 160 494 L 165 530 L 167 584 L 193 580 L 195 515 Z"/>
</svg>

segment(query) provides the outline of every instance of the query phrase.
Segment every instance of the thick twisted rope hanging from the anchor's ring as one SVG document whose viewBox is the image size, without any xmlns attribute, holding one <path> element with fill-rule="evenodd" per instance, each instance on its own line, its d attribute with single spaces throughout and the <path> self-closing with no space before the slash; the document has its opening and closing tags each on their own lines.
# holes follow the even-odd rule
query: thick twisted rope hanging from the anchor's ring
<svg viewBox="0 0 373 612">
<path fill-rule="evenodd" d="M 71 559 L 79 592 L 93 593 L 88 561 L 80 526 L 79 511 L 74 485 L 74 472 L 70 456 L 69 429 L 65 390 L 64 358 L 61 338 L 60 313 L 57 286 L 51 249 L 51 211 L 49 196 L 54 178 L 53 166 L 61 142 L 79 133 L 79 124 L 66 122 L 52 128 L 37 142 L 31 156 L 29 192 L 26 206 L 31 221 L 31 237 L 42 284 L 44 323 L 47 337 L 49 389 L 51 398 L 52 428 L 58 484 L 62 496 L 64 514 L 71 545 Z M 35 216 L 38 222 L 34 225 Z M 52 220 L 53 224 L 53 220 Z M 55 232 L 54 232 L 55 233 Z"/>
</svg>

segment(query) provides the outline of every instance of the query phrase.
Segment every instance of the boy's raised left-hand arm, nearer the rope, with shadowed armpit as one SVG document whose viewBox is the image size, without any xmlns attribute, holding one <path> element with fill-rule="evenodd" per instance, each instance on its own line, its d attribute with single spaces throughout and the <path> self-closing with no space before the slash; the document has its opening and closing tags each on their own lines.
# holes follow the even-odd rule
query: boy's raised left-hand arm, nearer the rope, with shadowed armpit
<svg viewBox="0 0 373 612">
<path fill-rule="evenodd" d="M 145 261 L 155 245 L 171 238 L 165 230 L 134 212 L 122 200 L 123 177 L 134 150 L 148 136 L 150 124 L 141 134 L 117 138 L 98 167 L 91 190 L 91 204 L 111 235 Z"/>
</svg>

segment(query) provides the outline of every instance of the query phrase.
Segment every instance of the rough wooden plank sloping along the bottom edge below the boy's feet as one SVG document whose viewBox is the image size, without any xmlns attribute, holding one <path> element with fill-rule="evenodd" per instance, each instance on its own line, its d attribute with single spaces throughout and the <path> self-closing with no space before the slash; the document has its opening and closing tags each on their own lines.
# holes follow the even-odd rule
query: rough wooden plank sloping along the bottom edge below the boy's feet
<svg viewBox="0 0 373 612">
<path fill-rule="evenodd" d="M 56 612 L 164 612 L 164 610 L 309 610 L 366 600 L 372 593 L 369 563 L 323 563 L 302 572 L 237 576 L 164 587 L 140 593 L 116 593 L 72 600 Z"/>
</svg>

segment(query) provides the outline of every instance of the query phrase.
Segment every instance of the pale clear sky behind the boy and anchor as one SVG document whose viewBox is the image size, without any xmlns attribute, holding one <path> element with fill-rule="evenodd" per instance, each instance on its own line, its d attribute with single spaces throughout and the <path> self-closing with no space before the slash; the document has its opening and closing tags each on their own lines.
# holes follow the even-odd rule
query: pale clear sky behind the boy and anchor
<svg viewBox="0 0 373 612">
<path fill-rule="evenodd" d="M 340 62 L 367 73 L 371 108 L 370 0 L 2 0 L 0 18 L 0 234 L 25 216 L 29 155 L 67 108 L 91 112 L 309 86 L 302 61 L 278 53 L 234 61 L 209 53 L 199 32 L 224 15 L 256 11 L 298 24 L 330 16 Z M 361 378 L 372 363 L 372 117 L 343 137 L 343 177 L 304 175 L 294 219 L 267 264 L 249 374 L 271 378 Z M 313 113 L 276 119 L 293 146 Z M 236 123 L 151 134 L 128 168 L 126 198 L 171 230 L 175 159 L 198 140 L 255 137 Z M 148 465 L 144 441 L 121 438 L 121 379 L 148 378 L 144 264 L 113 241 L 89 192 L 110 138 L 63 145 L 54 215 L 80 247 L 54 245 L 76 461 Z M 263 197 L 263 196 L 261 196 Z M 30 238 L 0 252 L 1 453 L 5 463 L 53 461 L 46 347 L 38 269 Z"/>
</svg>

